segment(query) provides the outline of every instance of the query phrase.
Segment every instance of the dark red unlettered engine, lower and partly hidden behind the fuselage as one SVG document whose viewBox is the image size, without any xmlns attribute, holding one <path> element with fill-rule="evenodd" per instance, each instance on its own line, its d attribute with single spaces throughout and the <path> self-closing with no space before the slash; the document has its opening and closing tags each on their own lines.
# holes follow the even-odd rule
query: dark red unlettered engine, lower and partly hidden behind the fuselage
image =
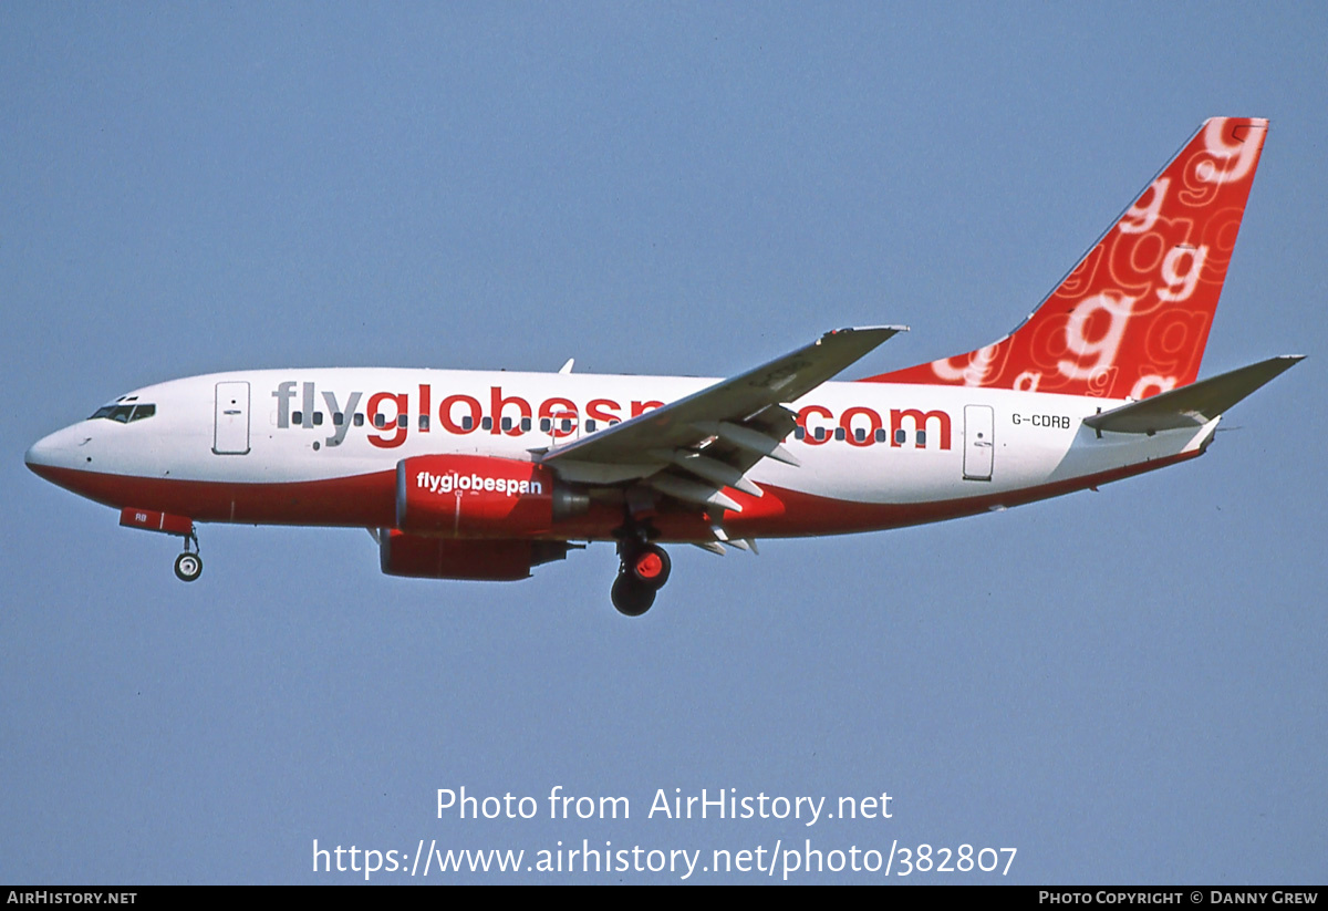
<svg viewBox="0 0 1328 911">
<path fill-rule="evenodd" d="M 456 540 L 381 531 L 378 562 L 392 576 L 514 582 L 540 563 L 567 556 L 560 540 Z"/>
</svg>

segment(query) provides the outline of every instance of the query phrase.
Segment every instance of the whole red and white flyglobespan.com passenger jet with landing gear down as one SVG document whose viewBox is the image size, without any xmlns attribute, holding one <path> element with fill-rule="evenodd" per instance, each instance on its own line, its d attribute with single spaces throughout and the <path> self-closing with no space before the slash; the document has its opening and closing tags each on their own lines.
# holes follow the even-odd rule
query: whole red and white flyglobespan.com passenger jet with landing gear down
<svg viewBox="0 0 1328 911">
<path fill-rule="evenodd" d="M 665 543 L 939 522 L 1185 462 L 1301 356 L 1198 380 L 1268 122 L 1206 121 L 1013 332 L 831 377 L 904 327 L 827 332 L 728 380 L 436 369 L 239 371 L 126 393 L 27 453 L 40 477 L 178 535 L 365 527 L 382 572 L 526 579 L 615 542 L 649 610 Z"/>
</svg>

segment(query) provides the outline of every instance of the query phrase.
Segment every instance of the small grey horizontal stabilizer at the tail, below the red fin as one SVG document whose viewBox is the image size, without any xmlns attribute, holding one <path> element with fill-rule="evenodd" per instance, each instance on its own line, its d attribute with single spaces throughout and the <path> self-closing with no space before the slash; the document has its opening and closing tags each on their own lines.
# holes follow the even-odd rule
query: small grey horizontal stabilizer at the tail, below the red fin
<svg viewBox="0 0 1328 911">
<path fill-rule="evenodd" d="M 1084 418 L 1084 424 L 1094 430 L 1112 433 L 1155 433 L 1203 426 L 1263 384 L 1295 367 L 1303 357 L 1304 355 L 1270 357 L 1230 373 L 1220 373 L 1143 401 L 1093 414 Z"/>
</svg>

